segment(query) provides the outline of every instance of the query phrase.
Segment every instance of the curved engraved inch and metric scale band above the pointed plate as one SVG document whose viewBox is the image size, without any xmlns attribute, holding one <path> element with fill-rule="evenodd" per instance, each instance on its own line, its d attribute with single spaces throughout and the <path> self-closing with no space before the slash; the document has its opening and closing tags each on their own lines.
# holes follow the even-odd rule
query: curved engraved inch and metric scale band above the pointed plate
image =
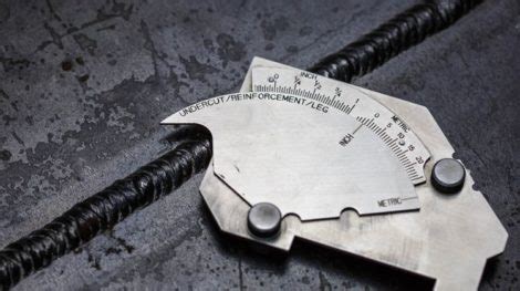
<svg viewBox="0 0 520 291">
<path fill-rule="evenodd" d="M 398 156 L 414 184 L 426 180 L 423 168 L 428 150 L 404 121 L 370 96 L 373 92 L 295 69 L 256 67 L 251 72 L 254 91 L 304 96 L 355 117 Z"/>
</svg>

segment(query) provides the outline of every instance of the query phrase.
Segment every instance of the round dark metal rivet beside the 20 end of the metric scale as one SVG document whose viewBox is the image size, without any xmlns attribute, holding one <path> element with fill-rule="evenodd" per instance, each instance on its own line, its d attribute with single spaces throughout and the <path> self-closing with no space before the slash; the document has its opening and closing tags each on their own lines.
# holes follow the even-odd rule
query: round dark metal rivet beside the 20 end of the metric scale
<svg viewBox="0 0 520 291">
<path fill-rule="evenodd" d="M 444 158 L 435 163 L 431 170 L 431 184 L 435 189 L 445 194 L 460 191 L 466 179 L 466 170 L 460 162 Z"/>
</svg>

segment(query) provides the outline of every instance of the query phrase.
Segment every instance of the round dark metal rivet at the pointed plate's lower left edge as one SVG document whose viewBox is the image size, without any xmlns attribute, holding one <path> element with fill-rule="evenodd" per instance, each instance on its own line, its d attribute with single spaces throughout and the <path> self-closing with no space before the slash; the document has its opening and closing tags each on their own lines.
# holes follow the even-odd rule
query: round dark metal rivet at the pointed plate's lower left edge
<svg viewBox="0 0 520 291">
<path fill-rule="evenodd" d="M 248 228 L 252 235 L 260 238 L 272 238 L 280 233 L 282 214 L 277 206 L 260 202 L 248 212 Z"/>
</svg>

